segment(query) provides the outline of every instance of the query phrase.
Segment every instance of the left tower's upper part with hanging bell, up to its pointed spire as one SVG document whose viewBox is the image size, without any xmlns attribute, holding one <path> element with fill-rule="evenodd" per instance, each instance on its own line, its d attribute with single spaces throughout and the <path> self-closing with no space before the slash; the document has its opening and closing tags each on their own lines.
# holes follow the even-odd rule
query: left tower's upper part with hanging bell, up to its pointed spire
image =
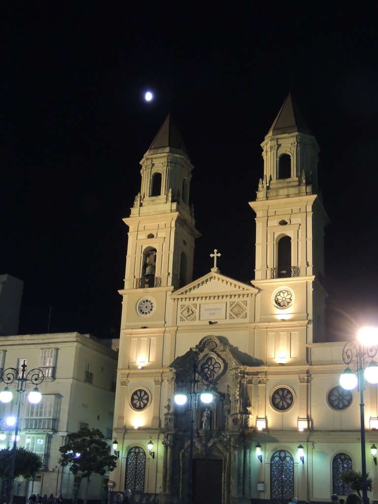
<svg viewBox="0 0 378 504">
<path fill-rule="evenodd" d="M 192 281 L 195 238 L 189 190 L 193 166 L 168 114 L 140 162 L 141 191 L 129 226 L 125 289 L 171 287 Z"/>
</svg>

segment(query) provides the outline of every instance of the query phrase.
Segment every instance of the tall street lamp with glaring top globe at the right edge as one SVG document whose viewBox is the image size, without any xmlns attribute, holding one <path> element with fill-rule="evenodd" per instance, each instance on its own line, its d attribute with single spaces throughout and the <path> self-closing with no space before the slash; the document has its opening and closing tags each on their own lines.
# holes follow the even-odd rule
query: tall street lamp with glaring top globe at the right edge
<svg viewBox="0 0 378 504">
<path fill-rule="evenodd" d="M 350 341 L 344 345 L 343 361 L 348 366 L 340 376 L 340 385 L 343 389 L 352 390 L 358 385 L 360 392 L 360 425 L 361 425 L 361 469 L 362 469 L 362 501 L 368 504 L 367 477 L 366 477 L 366 452 L 365 452 L 365 413 L 363 391 L 365 380 L 369 383 L 378 383 L 378 365 L 373 360 L 378 351 L 378 330 L 364 328 L 358 333 L 358 341 Z M 355 364 L 357 369 L 353 372 L 349 364 Z"/>
</svg>

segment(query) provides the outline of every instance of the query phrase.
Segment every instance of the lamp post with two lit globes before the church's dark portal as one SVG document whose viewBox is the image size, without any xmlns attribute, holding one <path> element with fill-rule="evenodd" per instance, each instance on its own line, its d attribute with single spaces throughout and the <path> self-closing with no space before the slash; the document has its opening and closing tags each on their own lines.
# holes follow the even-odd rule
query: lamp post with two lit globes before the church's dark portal
<svg viewBox="0 0 378 504">
<path fill-rule="evenodd" d="M 220 367 L 220 366 L 219 366 Z M 210 384 L 213 382 L 216 372 L 219 369 L 214 365 L 209 365 L 204 362 L 200 369 L 197 367 L 197 362 L 193 364 L 193 373 L 187 369 L 180 370 L 176 375 L 176 386 L 180 389 L 188 389 L 189 393 L 176 393 L 174 402 L 182 406 L 187 401 L 189 396 L 189 408 L 191 411 L 191 429 L 190 429 L 190 444 L 189 444 L 189 466 L 187 472 L 187 504 L 192 504 L 193 496 L 193 444 L 194 444 L 194 423 L 196 418 L 196 411 L 198 407 L 198 397 L 200 396 L 201 402 L 209 404 L 213 400 L 213 394 L 210 392 Z M 205 386 L 205 390 L 199 391 L 200 386 Z M 210 418 L 207 416 L 210 427 Z M 206 420 L 205 420 L 206 421 Z"/>
</svg>

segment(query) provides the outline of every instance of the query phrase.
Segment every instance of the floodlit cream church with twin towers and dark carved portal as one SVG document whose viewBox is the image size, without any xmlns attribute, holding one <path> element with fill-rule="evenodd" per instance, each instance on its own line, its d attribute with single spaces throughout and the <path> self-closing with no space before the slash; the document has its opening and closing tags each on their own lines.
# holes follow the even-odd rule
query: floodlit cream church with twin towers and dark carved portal
<svg viewBox="0 0 378 504">
<path fill-rule="evenodd" d="M 262 148 L 249 285 L 221 274 L 216 249 L 209 273 L 192 278 L 193 166 L 170 115 L 141 161 L 140 192 L 124 219 L 116 489 L 161 503 L 323 502 L 349 492 L 343 469 L 361 470 L 358 396 L 339 386 L 343 344 L 324 342 L 319 148 L 290 95 Z M 365 403 L 370 454 L 376 386 Z M 375 481 L 369 455 L 367 470 Z"/>
</svg>

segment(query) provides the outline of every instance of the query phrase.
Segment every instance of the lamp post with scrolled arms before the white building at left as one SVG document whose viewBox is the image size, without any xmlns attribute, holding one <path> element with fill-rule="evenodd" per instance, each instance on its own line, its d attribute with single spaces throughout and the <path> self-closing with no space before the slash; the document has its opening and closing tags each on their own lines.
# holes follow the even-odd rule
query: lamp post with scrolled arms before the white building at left
<svg viewBox="0 0 378 504">
<path fill-rule="evenodd" d="M 21 371 L 21 372 L 20 372 Z M 20 408 L 21 403 L 24 403 L 26 389 L 30 384 L 34 385 L 34 389 L 28 394 L 28 401 L 32 404 L 37 404 L 40 402 L 42 395 L 37 389 L 37 385 L 43 382 L 44 374 L 41 369 L 31 369 L 26 372 L 26 364 L 25 361 L 21 366 L 21 370 L 16 369 L 15 367 L 8 367 L 4 370 L 1 376 L 2 382 L 6 384 L 6 388 L 0 392 L 0 401 L 3 403 L 9 403 L 13 394 L 9 390 L 8 385 L 12 385 L 16 389 L 16 404 L 18 402 L 17 407 L 17 416 L 15 420 L 15 437 L 13 441 L 12 447 L 12 457 L 11 457 L 11 467 L 9 469 L 9 482 L 7 487 L 7 496 L 6 502 L 10 504 L 12 498 L 12 490 L 13 490 L 13 480 L 15 474 L 15 461 L 16 461 L 16 449 L 17 449 L 17 436 L 20 424 Z"/>
</svg>

